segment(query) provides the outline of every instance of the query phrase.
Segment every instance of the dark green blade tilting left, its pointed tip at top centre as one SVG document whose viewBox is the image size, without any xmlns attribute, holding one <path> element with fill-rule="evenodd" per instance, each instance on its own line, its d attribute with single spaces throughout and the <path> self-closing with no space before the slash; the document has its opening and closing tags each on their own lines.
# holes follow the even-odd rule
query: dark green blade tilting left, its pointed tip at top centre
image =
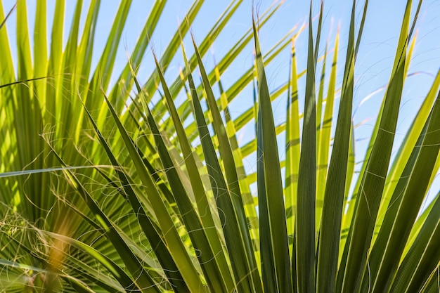
<svg viewBox="0 0 440 293">
<path fill-rule="evenodd" d="M 258 74 L 258 122 L 261 131 L 261 144 L 263 151 L 261 153 L 264 168 L 264 190 L 261 195 L 264 197 L 259 204 L 266 204 L 260 211 L 266 211 L 266 215 L 261 215 L 260 230 L 261 237 L 268 237 L 266 247 L 261 247 L 261 258 L 271 258 L 272 266 L 268 270 L 275 274 L 275 280 L 271 278 L 275 287 L 270 288 L 273 292 L 292 291 L 292 279 L 290 277 L 290 257 L 289 242 L 287 240 L 287 224 L 285 216 L 285 205 L 283 195 L 283 183 L 281 181 L 280 159 L 278 156 L 278 144 L 276 140 L 275 124 L 273 122 L 273 112 L 271 98 L 269 96 L 266 74 L 264 72 L 263 58 L 259 46 L 257 28 L 254 25 L 255 53 L 257 56 L 257 74 Z M 261 198 L 261 196 L 259 198 Z M 263 233 L 264 231 L 264 233 Z M 267 248 L 267 249 L 266 249 Z M 265 255 L 266 254 L 266 255 Z M 263 263 L 264 264 L 264 263 Z"/>
</svg>

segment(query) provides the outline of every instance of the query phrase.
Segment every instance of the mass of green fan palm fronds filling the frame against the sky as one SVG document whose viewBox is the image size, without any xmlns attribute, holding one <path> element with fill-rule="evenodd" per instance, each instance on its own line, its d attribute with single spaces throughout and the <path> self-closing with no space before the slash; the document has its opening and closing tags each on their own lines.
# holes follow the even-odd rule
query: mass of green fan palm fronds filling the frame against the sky
<svg viewBox="0 0 440 293">
<path fill-rule="evenodd" d="M 91 0 L 88 9 L 76 2 L 65 42 L 65 1 L 56 1 L 50 35 L 48 5 L 37 1 L 33 39 L 27 2 L 8 13 L 0 2 L 0 288 L 437 292 L 440 193 L 425 209 L 422 203 L 440 168 L 440 71 L 392 152 L 422 1 L 415 15 L 407 1 L 361 158 L 352 115 L 368 1 L 353 1 L 345 56 L 338 56 L 339 30 L 321 56 L 323 1 L 316 21 L 311 6 L 306 25 L 262 52 L 259 29 L 276 15 L 276 4 L 213 66 L 203 58 L 242 1 L 232 1 L 202 41 L 191 34 L 193 46 L 186 47 L 202 4 L 188 8 L 160 57 L 153 50 L 154 70 L 140 82 L 165 1 L 151 4 L 117 77 L 131 1 L 120 1 L 99 58 L 93 56 L 103 1 Z M 6 31 L 12 13 L 16 46 Z M 304 30 L 306 67 L 300 68 L 296 46 Z M 224 73 L 252 40 L 254 64 L 225 87 Z M 265 67 L 289 45 L 290 72 L 271 89 Z M 180 53 L 183 68 L 174 70 Z M 235 109 L 249 93 L 253 103 Z M 279 122 L 272 103 L 286 95 Z M 242 143 L 245 127 L 252 139 Z M 246 168 L 243 162 L 255 157 L 256 170 Z M 358 160 L 363 164 L 355 171 Z"/>
</svg>

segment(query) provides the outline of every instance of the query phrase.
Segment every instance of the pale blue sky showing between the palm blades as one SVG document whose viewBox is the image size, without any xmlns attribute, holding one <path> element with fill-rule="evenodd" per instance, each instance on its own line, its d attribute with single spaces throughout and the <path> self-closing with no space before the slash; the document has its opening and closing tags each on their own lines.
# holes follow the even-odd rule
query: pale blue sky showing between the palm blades
<svg viewBox="0 0 440 293">
<path fill-rule="evenodd" d="M 35 0 L 26 0 L 28 6 L 30 31 L 32 32 L 34 21 L 34 6 Z M 72 14 L 74 11 L 76 1 L 66 1 L 66 26 L 65 26 L 65 39 L 68 36 L 68 28 Z M 96 65 L 100 56 L 99 52 L 102 51 L 105 46 L 105 39 L 110 30 L 115 12 L 119 0 L 102 0 L 102 7 L 98 18 L 98 34 L 95 41 L 95 58 L 93 59 L 93 65 Z M 359 1 L 363 4 L 363 1 Z M 8 11 L 15 1 L 4 0 L 4 10 Z M 129 51 L 134 48 L 138 34 L 141 32 L 145 18 L 150 11 L 150 6 L 153 1 L 146 0 L 134 0 L 126 28 L 123 34 L 123 41 L 119 46 L 119 53 L 117 55 L 115 74 L 112 80 L 115 81 L 119 75 L 122 67 L 127 63 L 127 55 L 125 48 Z M 186 0 L 173 0 L 168 1 L 164 10 L 164 17 L 160 19 L 157 26 L 157 31 L 153 34 L 152 44 L 156 53 L 160 54 L 166 48 L 168 41 L 178 27 L 179 20 L 183 19 L 186 11 L 190 7 L 192 1 Z M 202 6 L 202 10 L 195 19 L 193 24 L 193 32 L 198 41 L 202 41 L 208 30 L 214 25 L 215 20 L 219 17 L 222 11 L 228 6 L 229 1 L 215 1 L 207 0 Z M 52 21 L 52 15 L 54 10 L 54 0 L 48 0 L 48 19 L 49 23 Z M 273 1 L 255 0 L 254 6 L 257 7 L 259 13 L 263 13 L 268 6 L 273 4 Z M 318 14 L 320 1 L 313 0 L 313 15 Z M 84 0 L 84 8 L 88 7 L 89 0 Z M 260 31 L 261 48 L 263 52 L 268 51 L 273 44 L 279 39 L 285 36 L 287 32 L 294 25 L 301 25 L 306 22 L 309 13 L 309 1 L 293 1 L 287 0 L 283 3 L 280 10 L 276 13 L 276 16 L 272 18 L 267 25 L 265 25 Z M 348 0 L 330 0 L 325 1 L 323 15 L 323 30 L 321 37 L 320 55 L 323 55 L 325 42 L 328 41 L 329 48 L 334 46 L 335 34 L 337 32 L 337 26 L 340 23 L 340 46 L 339 46 L 339 64 L 342 65 L 342 61 L 345 58 L 349 18 L 351 13 L 351 1 Z M 356 145 L 356 151 L 359 158 L 362 157 L 365 151 L 365 145 L 368 143 L 370 132 L 373 130 L 374 121 L 377 117 L 377 111 L 379 110 L 381 100 L 384 95 L 384 91 L 378 91 L 377 94 L 372 96 L 362 105 L 359 105 L 361 101 L 387 84 L 389 80 L 389 74 L 391 72 L 392 63 L 394 61 L 394 53 L 396 49 L 397 40 L 399 37 L 399 30 L 401 27 L 401 18 L 405 10 L 406 1 L 403 0 L 371 0 L 368 8 L 368 17 L 365 22 L 365 29 L 363 32 L 363 39 L 361 41 L 361 48 L 358 53 L 356 71 L 355 71 L 355 96 L 354 96 L 354 108 L 358 107 L 356 115 L 354 116 L 354 124 L 361 124 L 356 128 L 356 139 L 358 140 Z M 413 3 L 413 15 L 417 2 Z M 360 22 L 362 6 L 358 5 L 356 8 L 356 16 L 358 17 L 357 24 Z M 231 22 L 222 32 L 210 52 L 205 56 L 204 60 L 212 66 L 212 60 L 215 57 L 216 60 L 220 60 L 222 56 L 231 48 L 235 41 L 237 41 L 246 30 L 248 30 L 252 24 L 252 1 L 243 1 L 238 11 L 233 16 Z M 11 36 L 11 44 L 15 42 L 15 14 L 8 20 L 8 31 Z M 315 23 L 316 27 L 316 23 Z M 440 1 L 439 0 L 427 0 L 422 4 L 420 16 L 418 19 L 418 41 L 415 46 L 415 52 L 413 59 L 410 63 L 410 74 L 413 76 L 408 77 L 406 86 L 403 92 L 403 98 L 401 102 L 401 115 L 399 117 L 398 128 L 396 130 L 396 145 L 403 139 L 406 129 L 413 120 L 415 110 L 422 103 L 422 98 L 426 96 L 429 87 L 431 86 L 434 75 L 439 70 L 440 66 Z M 51 30 L 51 25 L 48 25 L 48 30 Z M 32 38 L 32 36 L 31 36 Z M 190 40 L 188 38 L 184 41 L 188 52 L 192 52 Z M 296 42 L 297 46 L 297 66 L 299 70 L 304 70 L 306 67 L 306 50 L 307 50 L 307 38 L 306 33 L 303 33 Z M 269 86 L 271 89 L 276 89 L 280 84 L 283 84 L 287 79 L 287 72 L 289 68 L 289 53 L 290 48 L 287 48 L 283 53 L 276 58 L 266 68 L 266 74 L 268 77 Z M 174 80 L 179 67 L 182 67 L 183 61 L 180 54 L 172 65 L 167 70 L 167 77 Z M 330 58 L 332 53 L 330 53 Z M 240 76 L 239 74 L 247 70 L 252 66 L 252 43 L 243 51 L 240 58 L 236 60 L 233 65 L 224 74 L 222 82 L 224 86 L 228 87 L 235 82 Z M 153 71 L 153 59 L 150 51 L 145 53 L 145 61 L 141 65 L 139 72 L 139 78 L 145 79 Z M 330 66 L 328 66 L 330 70 Z M 317 72 L 321 72 L 321 64 L 318 64 Z M 299 84 L 299 96 L 304 95 L 304 79 L 300 80 Z M 337 84 L 340 86 L 342 82 L 342 66 L 339 66 Z M 326 88 L 327 84 L 325 85 Z M 233 115 L 239 115 L 240 110 L 245 109 L 245 105 L 249 105 L 252 100 L 250 95 L 250 89 L 243 91 L 243 93 L 235 100 L 231 105 L 233 108 Z M 178 99 L 179 100 L 179 99 Z M 184 98 L 182 98 L 184 100 Z M 359 105 L 359 106 L 358 106 Z M 275 112 L 276 122 L 283 120 L 285 111 L 285 98 L 279 98 L 273 103 L 273 109 Z M 337 109 L 337 105 L 335 105 Z M 247 137 L 245 129 L 242 131 L 243 142 L 250 139 Z M 247 131 L 249 132 L 249 131 Z M 281 141 L 280 143 L 283 143 Z M 281 152 L 281 155 L 283 153 Z M 253 159 L 249 159 L 247 162 L 247 168 L 252 169 L 255 166 Z M 359 165 L 360 167 L 360 165 Z M 436 184 L 430 190 L 430 195 L 434 195 L 438 192 L 440 186 L 440 176 L 436 178 Z"/>
</svg>

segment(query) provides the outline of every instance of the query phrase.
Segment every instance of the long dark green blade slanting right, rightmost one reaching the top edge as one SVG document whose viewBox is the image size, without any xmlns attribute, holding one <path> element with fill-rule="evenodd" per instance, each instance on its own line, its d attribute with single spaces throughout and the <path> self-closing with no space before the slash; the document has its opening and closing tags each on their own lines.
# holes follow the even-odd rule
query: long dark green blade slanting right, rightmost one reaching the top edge
<svg viewBox="0 0 440 293">
<path fill-rule="evenodd" d="M 399 104 L 403 90 L 410 4 L 411 1 L 408 1 L 389 89 L 384 100 L 384 110 L 380 117 L 379 131 L 371 155 L 368 158 L 365 174 L 363 174 L 360 188 L 361 195 L 358 197 L 356 213 L 351 222 L 349 232 L 352 236 L 349 236 L 346 242 L 346 249 L 349 252 L 347 255 L 347 266 L 343 273 L 342 292 L 358 291 L 366 266 L 370 241 L 373 237 L 377 212 L 385 183 L 384 179 L 387 176 L 388 164 L 391 158 L 392 144 L 399 115 Z"/>
</svg>

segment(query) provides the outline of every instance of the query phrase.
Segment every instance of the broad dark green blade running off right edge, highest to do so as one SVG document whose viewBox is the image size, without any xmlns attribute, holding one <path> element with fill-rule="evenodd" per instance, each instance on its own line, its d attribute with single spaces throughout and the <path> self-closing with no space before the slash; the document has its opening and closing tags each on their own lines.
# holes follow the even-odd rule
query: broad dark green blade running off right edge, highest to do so
<svg viewBox="0 0 440 293">
<path fill-rule="evenodd" d="M 368 287 L 369 292 L 380 291 L 392 283 L 410 228 L 425 198 L 430 174 L 434 171 L 435 161 L 432 158 L 439 154 L 439 112 L 440 93 L 394 190 L 392 204 L 387 209 L 371 251 L 370 271 L 364 276 L 363 292 L 367 292 Z"/>
</svg>

